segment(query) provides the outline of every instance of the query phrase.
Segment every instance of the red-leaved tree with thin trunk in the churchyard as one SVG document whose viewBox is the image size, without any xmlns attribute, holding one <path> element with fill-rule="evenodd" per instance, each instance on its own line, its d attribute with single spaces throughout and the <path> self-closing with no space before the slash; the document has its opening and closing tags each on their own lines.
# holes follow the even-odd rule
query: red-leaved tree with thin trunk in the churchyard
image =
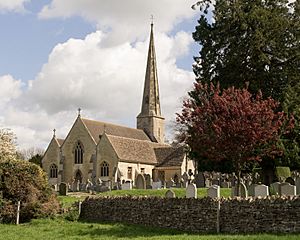
<svg viewBox="0 0 300 240">
<path fill-rule="evenodd" d="M 240 183 L 241 170 L 249 161 L 280 152 L 280 129 L 286 117 L 275 112 L 278 102 L 256 97 L 247 89 L 195 83 L 193 98 L 183 104 L 177 121 L 185 128 L 182 137 L 202 158 L 231 160 Z M 291 126 L 291 124 L 289 124 Z M 238 190 L 239 191 L 239 190 Z"/>
</svg>

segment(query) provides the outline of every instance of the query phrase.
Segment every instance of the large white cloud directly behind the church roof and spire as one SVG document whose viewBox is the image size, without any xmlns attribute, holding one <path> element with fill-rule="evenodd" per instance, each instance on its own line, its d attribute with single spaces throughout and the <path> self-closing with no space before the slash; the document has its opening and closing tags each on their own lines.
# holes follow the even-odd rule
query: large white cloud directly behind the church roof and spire
<svg viewBox="0 0 300 240">
<path fill-rule="evenodd" d="M 11 76 L 0 78 L 7 86 L 14 86 L 4 91 L 5 98 L 13 97 L 2 112 L 0 127 L 14 130 L 20 148 L 45 148 L 53 128 L 64 138 L 78 107 L 83 109 L 83 117 L 135 127 L 149 39 L 107 46 L 107 37 L 96 31 L 85 39 L 58 44 L 22 93 L 20 81 Z M 173 37 L 155 32 L 162 113 L 167 123 L 174 119 L 181 97 L 193 82 L 193 74 L 176 65 L 176 59 L 188 52 L 191 43 L 184 32 Z"/>
</svg>

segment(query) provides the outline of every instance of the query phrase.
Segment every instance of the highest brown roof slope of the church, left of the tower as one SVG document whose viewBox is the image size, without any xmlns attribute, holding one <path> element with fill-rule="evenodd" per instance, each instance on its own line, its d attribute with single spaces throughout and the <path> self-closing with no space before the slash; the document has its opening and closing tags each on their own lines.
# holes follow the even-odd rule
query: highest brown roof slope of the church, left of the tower
<svg viewBox="0 0 300 240">
<path fill-rule="evenodd" d="M 99 141 L 99 136 L 102 136 L 104 132 L 108 135 L 113 136 L 150 141 L 145 132 L 140 129 L 123 127 L 111 123 L 99 122 L 85 118 L 81 118 L 81 120 L 96 143 Z"/>
</svg>

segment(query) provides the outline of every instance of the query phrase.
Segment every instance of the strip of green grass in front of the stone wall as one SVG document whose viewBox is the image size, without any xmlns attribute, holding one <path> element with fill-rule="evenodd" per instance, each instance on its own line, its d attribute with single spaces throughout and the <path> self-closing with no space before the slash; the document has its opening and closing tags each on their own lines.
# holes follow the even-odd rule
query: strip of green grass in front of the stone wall
<svg viewBox="0 0 300 240">
<path fill-rule="evenodd" d="M 91 224 L 80 222 L 68 222 L 66 220 L 34 220 L 31 223 L 21 225 L 0 225 L 0 239 L 35 240 L 35 239 L 185 239 L 185 240 L 296 240 L 298 235 L 214 235 L 214 234 L 190 234 L 176 230 L 157 229 L 126 224 Z"/>
</svg>

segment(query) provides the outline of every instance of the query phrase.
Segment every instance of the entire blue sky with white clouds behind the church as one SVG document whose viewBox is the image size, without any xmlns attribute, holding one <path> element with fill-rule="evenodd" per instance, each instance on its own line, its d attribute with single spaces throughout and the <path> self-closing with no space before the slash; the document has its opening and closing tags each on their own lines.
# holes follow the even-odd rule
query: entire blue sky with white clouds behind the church
<svg viewBox="0 0 300 240">
<path fill-rule="evenodd" d="M 136 127 L 151 15 L 162 114 L 192 88 L 195 0 L 0 0 L 0 128 L 19 149 L 45 149 L 84 118 Z"/>
</svg>

